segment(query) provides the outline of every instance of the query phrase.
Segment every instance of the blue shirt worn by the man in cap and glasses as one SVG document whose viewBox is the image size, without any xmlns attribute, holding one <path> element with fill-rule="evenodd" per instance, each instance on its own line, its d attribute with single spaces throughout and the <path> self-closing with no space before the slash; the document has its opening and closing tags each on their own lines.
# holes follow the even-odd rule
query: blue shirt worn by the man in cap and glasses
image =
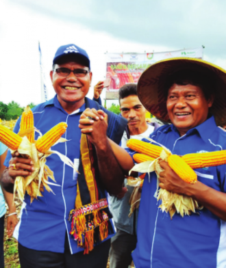
<svg viewBox="0 0 226 268">
<path fill-rule="evenodd" d="M 79 118 L 86 107 L 96 107 L 98 105 L 93 100 L 86 98 L 86 103 L 71 114 L 66 113 L 61 107 L 57 96 L 53 99 L 34 107 L 34 126 L 45 134 L 49 129 L 59 122 L 66 122 L 68 128 L 62 135 L 68 142 L 59 143 L 52 146 L 52 150 L 57 150 L 66 155 L 77 165 L 80 157 L 81 130 L 79 129 Z M 100 107 L 105 112 L 103 107 Z M 108 121 L 108 137 L 116 142 L 120 142 L 123 135 L 126 120 L 121 120 L 118 116 L 112 115 Z M 20 128 L 21 118 L 16 122 L 14 132 Z M 38 138 L 36 133 L 35 139 Z M 11 159 L 10 152 L 5 159 L 5 165 L 9 165 Z M 21 221 L 17 226 L 18 242 L 32 250 L 44 250 L 51 252 L 64 252 L 65 233 L 69 238 L 71 254 L 84 249 L 77 246 L 73 236 L 69 235 L 71 222 L 68 222 L 68 215 L 75 209 L 75 198 L 77 193 L 77 176 L 72 167 L 65 165 L 58 155 L 52 154 L 47 157 L 47 165 L 53 171 L 56 183 L 49 178 L 50 187 L 53 193 L 42 192 L 43 197 L 34 199 L 30 203 L 30 197 L 25 194 L 25 201 L 21 209 Z M 110 235 L 107 239 L 112 237 Z"/>
</svg>

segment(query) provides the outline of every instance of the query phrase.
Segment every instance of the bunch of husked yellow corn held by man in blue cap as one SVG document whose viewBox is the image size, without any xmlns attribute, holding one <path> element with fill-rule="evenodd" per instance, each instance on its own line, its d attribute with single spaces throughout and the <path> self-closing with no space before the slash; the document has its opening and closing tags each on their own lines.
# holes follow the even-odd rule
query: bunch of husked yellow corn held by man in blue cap
<svg viewBox="0 0 226 268">
<path fill-rule="evenodd" d="M 34 198 L 37 199 L 38 196 L 42 196 L 40 191 L 44 191 L 44 187 L 47 191 L 51 191 L 48 185 L 48 177 L 54 181 L 55 179 L 53 172 L 45 165 L 46 157 L 51 155 L 52 151 L 49 149 L 65 133 L 66 127 L 66 122 L 60 122 L 45 135 L 39 137 L 38 140 L 34 140 L 34 116 L 29 107 L 26 107 L 22 113 L 21 128 L 18 134 L 0 124 L 0 142 L 8 146 L 12 153 L 17 151 L 21 157 L 34 161 L 35 170 L 31 175 L 16 177 L 14 192 L 17 191 L 21 200 L 24 199 L 26 191 L 31 196 L 31 202 Z"/>
</svg>

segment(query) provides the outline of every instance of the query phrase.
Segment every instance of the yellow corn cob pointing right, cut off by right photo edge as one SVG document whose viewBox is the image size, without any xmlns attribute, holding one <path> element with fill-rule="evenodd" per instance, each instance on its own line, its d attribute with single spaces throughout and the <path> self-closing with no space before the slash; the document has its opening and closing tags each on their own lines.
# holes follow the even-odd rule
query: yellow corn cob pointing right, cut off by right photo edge
<svg viewBox="0 0 226 268">
<path fill-rule="evenodd" d="M 184 155 L 182 157 L 195 170 L 201 167 L 214 167 L 226 164 L 226 150 Z"/>
</svg>

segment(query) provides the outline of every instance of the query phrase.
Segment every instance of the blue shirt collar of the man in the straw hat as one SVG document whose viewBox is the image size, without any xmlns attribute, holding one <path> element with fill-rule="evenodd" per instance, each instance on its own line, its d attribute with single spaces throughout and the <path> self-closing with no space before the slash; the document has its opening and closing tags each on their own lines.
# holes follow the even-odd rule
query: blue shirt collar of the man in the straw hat
<svg viewBox="0 0 226 268">
<path fill-rule="evenodd" d="M 199 126 L 194 127 L 193 129 L 190 129 L 186 135 L 189 135 L 191 133 L 194 133 L 194 131 L 197 131 L 200 135 L 200 137 L 203 139 L 204 142 L 208 142 L 208 139 L 210 138 L 210 135 L 212 135 L 212 133 L 215 131 L 216 128 L 216 122 L 214 119 L 214 116 L 210 116 L 210 118 L 208 118 L 207 120 L 205 120 L 205 122 L 203 122 L 202 124 L 199 124 Z M 170 131 L 174 131 L 177 132 L 176 127 L 171 124 L 168 129 L 166 129 L 164 131 L 164 133 L 168 133 Z"/>
</svg>

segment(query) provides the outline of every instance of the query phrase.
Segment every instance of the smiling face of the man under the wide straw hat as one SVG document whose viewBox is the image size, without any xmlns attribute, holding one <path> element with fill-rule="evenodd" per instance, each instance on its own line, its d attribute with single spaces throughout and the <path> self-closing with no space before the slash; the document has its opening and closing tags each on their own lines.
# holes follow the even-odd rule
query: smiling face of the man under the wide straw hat
<svg viewBox="0 0 226 268">
<path fill-rule="evenodd" d="M 168 90 L 166 107 L 172 124 L 184 135 L 208 118 L 212 103 L 213 99 L 207 100 L 199 86 L 173 84 Z"/>
</svg>

